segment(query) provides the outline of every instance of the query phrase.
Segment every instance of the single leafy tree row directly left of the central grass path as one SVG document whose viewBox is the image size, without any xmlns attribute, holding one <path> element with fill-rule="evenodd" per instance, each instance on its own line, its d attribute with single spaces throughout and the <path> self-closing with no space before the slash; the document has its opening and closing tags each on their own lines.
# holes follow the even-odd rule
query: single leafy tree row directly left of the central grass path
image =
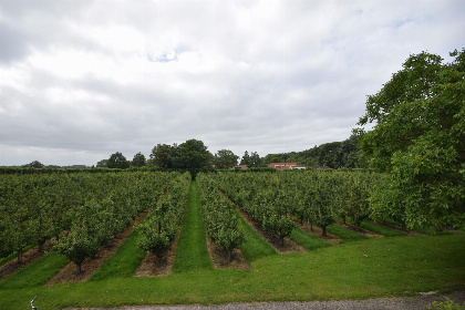
<svg viewBox="0 0 465 310">
<path fill-rule="evenodd" d="M 183 221 L 190 184 L 190 174 L 184 173 L 168 183 L 167 192 L 149 210 L 147 218 L 137 226 L 138 246 L 156 255 L 157 261 L 175 239 Z"/>
</svg>

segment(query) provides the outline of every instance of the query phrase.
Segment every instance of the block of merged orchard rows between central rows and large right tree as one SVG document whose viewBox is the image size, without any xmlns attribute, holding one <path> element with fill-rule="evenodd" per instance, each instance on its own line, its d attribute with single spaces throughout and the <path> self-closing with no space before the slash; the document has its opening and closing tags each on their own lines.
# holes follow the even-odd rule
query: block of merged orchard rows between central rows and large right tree
<svg viewBox="0 0 465 310">
<path fill-rule="evenodd" d="M 309 170 L 280 174 L 218 174 L 218 184 L 245 211 L 281 240 L 293 229 L 293 218 L 326 228 L 338 217 L 358 227 L 372 210 L 369 197 L 380 174 Z"/>
</svg>

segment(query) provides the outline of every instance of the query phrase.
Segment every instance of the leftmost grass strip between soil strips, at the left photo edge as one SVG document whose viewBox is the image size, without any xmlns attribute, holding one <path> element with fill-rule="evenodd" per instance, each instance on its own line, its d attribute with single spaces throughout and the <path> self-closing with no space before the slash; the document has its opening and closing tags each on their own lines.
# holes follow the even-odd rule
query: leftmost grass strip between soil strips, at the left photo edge
<svg viewBox="0 0 465 310">
<path fill-rule="evenodd" d="M 68 258 L 49 254 L 18 270 L 0 282 L 0 289 L 37 287 L 45 283 L 69 262 Z"/>
</svg>

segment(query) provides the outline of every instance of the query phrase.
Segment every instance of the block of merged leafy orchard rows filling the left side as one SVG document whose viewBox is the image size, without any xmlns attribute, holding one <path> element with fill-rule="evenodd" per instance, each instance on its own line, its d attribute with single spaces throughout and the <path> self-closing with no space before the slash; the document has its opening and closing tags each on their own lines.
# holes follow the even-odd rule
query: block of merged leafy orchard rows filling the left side
<svg viewBox="0 0 465 310">
<path fill-rule="evenodd" d="M 54 237 L 55 248 L 79 262 L 153 206 L 169 178 L 167 173 L 0 175 L 0 255 L 16 252 L 21 264 L 25 246 L 42 249 Z"/>
</svg>

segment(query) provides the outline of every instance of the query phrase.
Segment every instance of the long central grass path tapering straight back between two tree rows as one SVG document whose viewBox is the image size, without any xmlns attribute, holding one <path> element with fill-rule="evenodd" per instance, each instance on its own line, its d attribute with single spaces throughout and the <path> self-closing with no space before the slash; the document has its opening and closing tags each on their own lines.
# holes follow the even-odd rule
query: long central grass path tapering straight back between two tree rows
<svg viewBox="0 0 465 310">
<path fill-rule="evenodd" d="M 202 205 L 198 198 L 197 184 L 193 180 L 177 244 L 174 272 L 210 268 L 211 262 L 207 250 Z"/>
</svg>

